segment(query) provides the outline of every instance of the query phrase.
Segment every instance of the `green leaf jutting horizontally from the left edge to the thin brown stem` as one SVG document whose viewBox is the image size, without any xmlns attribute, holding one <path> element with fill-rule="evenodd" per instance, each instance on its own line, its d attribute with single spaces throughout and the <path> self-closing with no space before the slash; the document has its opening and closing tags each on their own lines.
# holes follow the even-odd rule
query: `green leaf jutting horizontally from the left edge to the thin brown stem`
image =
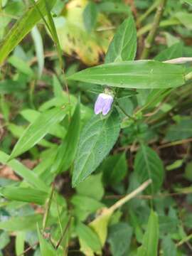
<svg viewBox="0 0 192 256">
<path fill-rule="evenodd" d="M 43 205 L 48 198 L 48 193 L 33 188 L 0 188 L 0 195 L 9 200 L 36 203 Z"/>
</svg>

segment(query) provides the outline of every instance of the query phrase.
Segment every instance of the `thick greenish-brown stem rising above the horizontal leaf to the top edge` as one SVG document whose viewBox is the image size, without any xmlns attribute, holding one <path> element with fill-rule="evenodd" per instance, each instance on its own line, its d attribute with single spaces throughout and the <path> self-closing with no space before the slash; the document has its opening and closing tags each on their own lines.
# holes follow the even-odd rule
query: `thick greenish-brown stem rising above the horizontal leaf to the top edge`
<svg viewBox="0 0 192 256">
<path fill-rule="evenodd" d="M 149 32 L 149 35 L 146 37 L 146 40 L 144 42 L 144 50 L 142 51 L 142 56 L 141 56 L 142 59 L 146 59 L 149 56 L 149 51 L 152 43 L 154 42 L 156 31 L 159 28 L 159 23 L 161 21 L 161 16 L 163 14 L 165 4 L 166 4 L 166 0 L 161 0 L 159 6 L 156 9 L 156 14 L 154 16 L 154 23 L 152 25 L 151 31 Z"/>
</svg>

